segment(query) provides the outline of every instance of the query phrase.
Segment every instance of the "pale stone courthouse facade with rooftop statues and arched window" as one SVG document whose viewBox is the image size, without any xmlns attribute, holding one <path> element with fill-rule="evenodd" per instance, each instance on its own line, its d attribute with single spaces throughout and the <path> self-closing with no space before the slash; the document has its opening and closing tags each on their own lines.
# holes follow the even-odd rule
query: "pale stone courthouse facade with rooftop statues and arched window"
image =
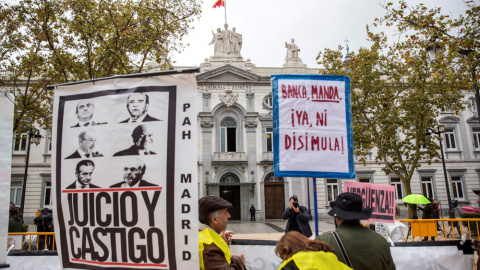
<svg viewBox="0 0 480 270">
<path fill-rule="evenodd" d="M 221 33 L 220 33 L 221 34 Z M 219 34 L 219 35 L 220 35 Z M 313 179 L 275 177 L 273 174 L 272 74 L 318 74 L 303 64 L 298 45 L 285 44 L 287 54 L 282 67 L 257 67 L 241 55 L 243 40 L 214 45 L 213 56 L 200 64 L 198 85 L 198 187 L 199 197 L 218 195 L 233 204 L 232 220 L 250 220 L 251 205 L 257 220 L 279 219 L 288 199 L 297 195 L 301 205 L 313 215 Z M 233 35 L 230 33 L 230 35 Z M 240 35 L 240 36 L 238 36 Z M 236 42 L 236 43 L 235 43 Z M 284 56 L 279 56 L 284 57 Z M 176 69 L 192 67 L 176 67 Z M 473 93 L 465 92 L 469 107 L 460 115 L 444 112 L 439 123 L 445 126 L 444 148 L 452 198 L 463 205 L 477 206 L 472 188 L 480 188 L 480 124 L 475 114 Z M 472 103 L 473 101 L 473 103 Z M 38 147 L 32 146 L 26 187 L 25 217 L 31 222 L 36 211 L 51 207 L 50 131 Z M 20 203 L 25 164 L 25 134 L 14 138 L 11 201 Z M 328 201 L 343 190 L 344 181 L 394 185 L 397 203 L 403 211 L 403 184 L 394 175 L 385 175 L 382 164 L 374 161 L 375 151 L 366 165 L 355 162 L 356 179 L 316 179 L 317 205 L 321 217 L 327 216 Z M 357 159 L 356 159 L 357 160 Z M 73 175 L 72 175 L 73 177 Z M 434 197 L 448 209 L 442 163 L 422 164 L 412 179 L 412 191 Z M 402 217 L 405 217 L 404 215 Z"/>
</svg>

